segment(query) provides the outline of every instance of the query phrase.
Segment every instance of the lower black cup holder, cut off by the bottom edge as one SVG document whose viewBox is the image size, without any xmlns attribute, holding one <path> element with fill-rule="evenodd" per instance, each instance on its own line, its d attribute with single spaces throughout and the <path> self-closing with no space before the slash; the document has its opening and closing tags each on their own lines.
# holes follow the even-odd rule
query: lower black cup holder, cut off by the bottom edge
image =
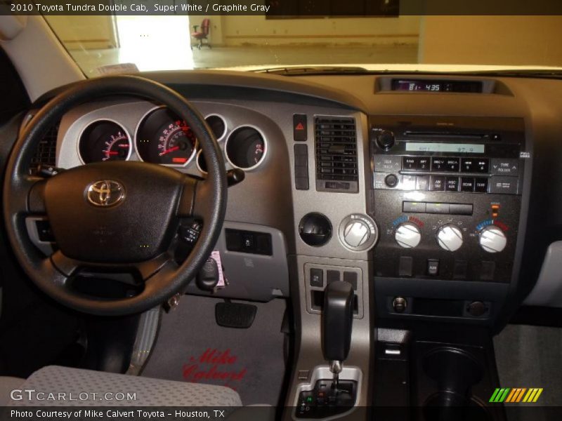
<svg viewBox="0 0 562 421">
<path fill-rule="evenodd" d="M 484 404 L 474 397 L 454 392 L 438 392 L 429 396 L 423 408 L 425 421 L 491 421 Z"/>
</svg>

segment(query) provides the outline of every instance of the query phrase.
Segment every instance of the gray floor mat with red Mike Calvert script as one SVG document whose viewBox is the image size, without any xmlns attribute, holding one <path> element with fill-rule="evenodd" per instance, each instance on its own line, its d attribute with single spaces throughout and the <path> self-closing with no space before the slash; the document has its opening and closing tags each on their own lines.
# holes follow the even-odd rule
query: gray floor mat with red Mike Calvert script
<svg viewBox="0 0 562 421">
<path fill-rule="evenodd" d="M 248 329 L 218 326 L 217 302 L 223 300 L 185 295 L 174 311 L 163 314 L 142 375 L 226 385 L 244 405 L 277 405 L 285 375 L 280 332 L 285 300 L 252 303 L 258 309 Z"/>
</svg>

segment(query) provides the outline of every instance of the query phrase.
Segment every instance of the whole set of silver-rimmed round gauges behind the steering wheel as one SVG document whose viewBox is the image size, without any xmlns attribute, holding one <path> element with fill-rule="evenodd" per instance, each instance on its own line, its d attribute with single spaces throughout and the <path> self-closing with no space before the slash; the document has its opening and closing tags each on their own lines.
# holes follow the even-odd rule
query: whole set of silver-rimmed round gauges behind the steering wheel
<svg viewBox="0 0 562 421">
<path fill-rule="evenodd" d="M 259 128 L 244 125 L 230 130 L 218 114 L 209 114 L 205 121 L 216 140 L 223 141 L 221 147 L 230 166 L 251 171 L 261 165 L 267 154 L 267 143 Z M 200 172 L 207 172 L 195 133 L 167 107 L 146 112 L 134 133 L 113 119 L 90 121 L 79 135 L 78 154 L 81 163 L 138 159 L 185 168 L 195 162 Z"/>
</svg>

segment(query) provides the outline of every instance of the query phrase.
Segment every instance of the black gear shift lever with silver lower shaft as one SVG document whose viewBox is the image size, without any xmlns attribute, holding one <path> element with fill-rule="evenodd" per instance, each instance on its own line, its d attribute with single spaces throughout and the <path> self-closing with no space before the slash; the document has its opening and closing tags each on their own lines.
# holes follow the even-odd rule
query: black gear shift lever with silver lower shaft
<svg viewBox="0 0 562 421">
<path fill-rule="evenodd" d="M 329 283 L 322 311 L 322 352 L 334 374 L 332 388 L 339 388 L 339 373 L 349 354 L 353 323 L 353 287 L 351 283 Z"/>
</svg>

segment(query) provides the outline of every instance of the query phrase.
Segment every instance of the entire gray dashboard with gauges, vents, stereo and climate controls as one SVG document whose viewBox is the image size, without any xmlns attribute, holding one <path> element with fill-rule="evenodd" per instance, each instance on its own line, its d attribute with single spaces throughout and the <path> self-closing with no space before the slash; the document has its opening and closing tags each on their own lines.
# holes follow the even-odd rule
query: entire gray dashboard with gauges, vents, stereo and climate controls
<svg viewBox="0 0 562 421">
<path fill-rule="evenodd" d="M 246 172 L 229 189 L 217 244 L 228 286 L 212 294 L 296 295 L 302 312 L 314 315 L 327 283 L 342 279 L 353 284 L 358 320 L 368 319 L 373 296 L 383 323 L 486 326 L 505 321 L 535 284 L 535 304 L 561 296 L 561 280 L 556 271 L 545 274 L 543 260 L 562 240 L 555 199 L 562 81 L 147 76 L 191 100 L 227 169 Z M 140 160 L 205 175 L 185 121 L 145 100 L 81 105 L 50 142 L 54 154 L 43 145 L 35 162 L 47 156 L 45 163 L 71 168 Z M 39 247 L 49 244 L 39 225 L 28 229 Z M 195 286 L 189 292 L 211 294 Z"/>
</svg>

